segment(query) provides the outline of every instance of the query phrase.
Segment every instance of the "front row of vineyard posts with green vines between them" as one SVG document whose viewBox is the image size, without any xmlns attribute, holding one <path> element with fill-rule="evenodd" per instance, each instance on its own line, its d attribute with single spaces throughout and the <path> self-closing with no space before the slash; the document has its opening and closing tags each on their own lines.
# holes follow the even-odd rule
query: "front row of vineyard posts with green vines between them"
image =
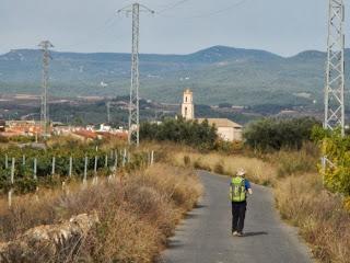
<svg viewBox="0 0 350 263">
<path fill-rule="evenodd" d="M 154 151 L 130 152 L 110 150 L 107 152 L 85 153 L 83 157 L 45 156 L 11 157 L 0 156 L 0 190 L 8 194 L 8 206 L 12 206 L 14 194 L 37 192 L 40 185 L 46 187 L 66 187 L 71 181 L 95 184 L 98 176 L 115 179 L 117 171 L 131 171 L 154 163 Z"/>
</svg>

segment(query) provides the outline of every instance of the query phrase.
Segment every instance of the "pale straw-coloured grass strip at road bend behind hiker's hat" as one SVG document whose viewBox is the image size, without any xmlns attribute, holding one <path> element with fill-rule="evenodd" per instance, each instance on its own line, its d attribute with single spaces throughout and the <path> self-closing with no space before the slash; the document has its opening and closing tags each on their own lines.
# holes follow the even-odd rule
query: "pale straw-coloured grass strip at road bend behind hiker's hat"
<svg viewBox="0 0 350 263">
<path fill-rule="evenodd" d="M 179 152 L 173 155 L 172 162 L 180 167 L 192 165 L 196 169 L 226 175 L 233 175 L 237 169 L 244 168 L 249 180 L 262 185 L 273 183 L 277 176 L 277 170 L 271 164 L 256 158 L 243 156 Z"/>
</svg>

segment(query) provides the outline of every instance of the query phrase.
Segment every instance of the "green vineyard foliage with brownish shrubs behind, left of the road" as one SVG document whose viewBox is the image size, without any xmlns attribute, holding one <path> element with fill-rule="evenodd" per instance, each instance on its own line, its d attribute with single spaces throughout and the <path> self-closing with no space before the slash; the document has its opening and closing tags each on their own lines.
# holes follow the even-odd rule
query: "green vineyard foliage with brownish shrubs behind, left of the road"
<svg viewBox="0 0 350 263">
<path fill-rule="evenodd" d="M 40 148 L 8 144 L 0 147 L 0 193 L 13 188 L 16 194 L 25 194 L 38 186 L 57 187 L 62 182 L 82 181 L 85 165 L 86 179 L 90 179 L 96 174 L 110 175 L 114 169 L 130 171 L 148 163 L 149 152 L 126 150 L 126 146 L 110 139 L 84 142 L 71 137 L 52 137 Z"/>
</svg>

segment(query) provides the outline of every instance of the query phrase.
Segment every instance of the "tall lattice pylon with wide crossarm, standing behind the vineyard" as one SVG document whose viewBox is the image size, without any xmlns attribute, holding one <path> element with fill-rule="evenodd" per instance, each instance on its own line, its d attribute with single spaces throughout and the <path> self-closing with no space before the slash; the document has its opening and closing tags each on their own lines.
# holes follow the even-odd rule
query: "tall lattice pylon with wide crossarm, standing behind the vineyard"
<svg viewBox="0 0 350 263">
<path fill-rule="evenodd" d="M 154 13 L 153 10 L 133 3 L 118 10 L 118 13 L 126 12 L 128 15 L 132 13 L 132 47 L 131 47 L 131 85 L 130 85 L 130 102 L 129 102 L 129 145 L 139 146 L 140 142 L 140 110 L 139 110 L 139 39 L 140 39 L 140 12 Z"/>
</svg>

